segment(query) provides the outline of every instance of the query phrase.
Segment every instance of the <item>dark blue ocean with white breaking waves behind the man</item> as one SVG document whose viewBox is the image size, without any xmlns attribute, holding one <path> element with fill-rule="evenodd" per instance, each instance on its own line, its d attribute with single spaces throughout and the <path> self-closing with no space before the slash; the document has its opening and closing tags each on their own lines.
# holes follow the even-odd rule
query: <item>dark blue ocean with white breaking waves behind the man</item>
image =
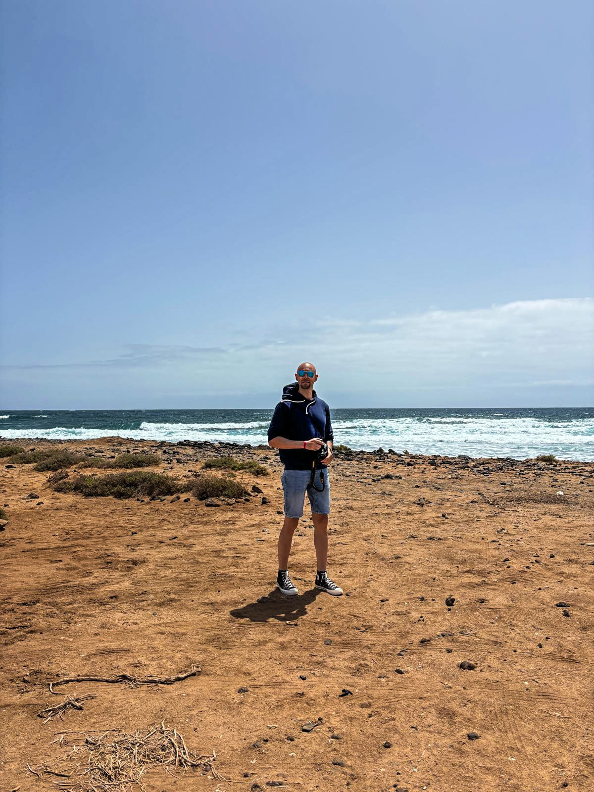
<svg viewBox="0 0 594 792">
<path fill-rule="evenodd" d="M 0 438 L 266 443 L 272 409 L 0 410 Z M 594 408 L 333 409 L 334 443 L 362 451 L 594 460 Z"/>
</svg>

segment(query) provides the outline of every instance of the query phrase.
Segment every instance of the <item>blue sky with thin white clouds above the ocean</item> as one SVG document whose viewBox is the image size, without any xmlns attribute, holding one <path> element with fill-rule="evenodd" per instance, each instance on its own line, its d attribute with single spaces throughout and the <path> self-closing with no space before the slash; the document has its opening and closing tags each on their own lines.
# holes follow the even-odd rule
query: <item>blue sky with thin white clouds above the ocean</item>
<svg viewBox="0 0 594 792">
<path fill-rule="evenodd" d="M 590 2 L 0 10 L 0 408 L 594 404 Z"/>
</svg>

